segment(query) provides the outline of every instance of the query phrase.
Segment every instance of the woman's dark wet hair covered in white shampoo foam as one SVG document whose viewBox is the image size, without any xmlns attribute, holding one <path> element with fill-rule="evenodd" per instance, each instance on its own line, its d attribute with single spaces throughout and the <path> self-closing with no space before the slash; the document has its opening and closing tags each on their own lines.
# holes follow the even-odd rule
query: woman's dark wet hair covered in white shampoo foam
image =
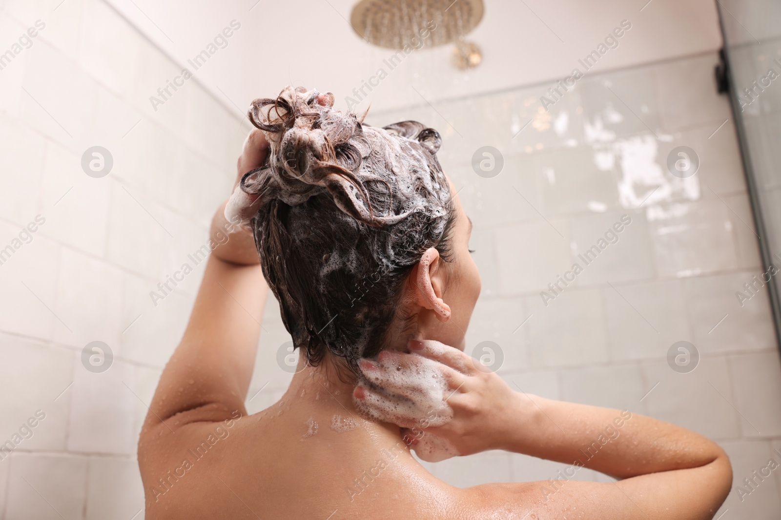
<svg viewBox="0 0 781 520">
<path fill-rule="evenodd" d="M 252 102 L 270 150 L 241 189 L 261 196 L 251 227 L 294 345 L 310 365 L 330 352 L 359 373 L 358 360 L 383 348 L 426 249 L 449 261 L 455 213 L 436 130 L 363 125 L 333 109 L 333 94 L 319 97 L 286 87 Z"/>
</svg>

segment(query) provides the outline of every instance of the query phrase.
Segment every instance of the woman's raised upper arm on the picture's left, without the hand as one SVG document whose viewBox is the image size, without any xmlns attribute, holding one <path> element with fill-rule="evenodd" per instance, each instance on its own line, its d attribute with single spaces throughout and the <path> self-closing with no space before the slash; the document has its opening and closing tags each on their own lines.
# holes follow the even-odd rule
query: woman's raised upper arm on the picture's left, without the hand
<svg viewBox="0 0 781 520">
<path fill-rule="evenodd" d="M 162 372 L 146 428 L 182 426 L 245 414 L 268 288 L 259 265 L 210 256 L 190 321 Z M 173 424 L 173 423 L 177 424 Z"/>
</svg>

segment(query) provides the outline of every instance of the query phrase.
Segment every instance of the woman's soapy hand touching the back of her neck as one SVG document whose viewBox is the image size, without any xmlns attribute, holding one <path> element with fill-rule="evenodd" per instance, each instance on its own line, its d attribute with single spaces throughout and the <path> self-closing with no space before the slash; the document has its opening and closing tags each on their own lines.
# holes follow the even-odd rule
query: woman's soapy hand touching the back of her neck
<svg viewBox="0 0 781 520">
<path fill-rule="evenodd" d="M 383 350 L 362 359 L 370 384 L 353 396 L 362 409 L 402 428 L 423 460 L 503 447 L 508 416 L 523 409 L 519 394 L 480 362 L 439 341 L 411 340 L 409 354 Z"/>
</svg>

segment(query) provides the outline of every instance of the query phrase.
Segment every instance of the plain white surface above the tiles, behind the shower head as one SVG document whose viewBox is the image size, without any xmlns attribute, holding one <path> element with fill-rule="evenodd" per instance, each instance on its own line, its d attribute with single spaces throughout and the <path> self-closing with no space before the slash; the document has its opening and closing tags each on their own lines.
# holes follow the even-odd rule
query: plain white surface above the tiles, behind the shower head
<svg viewBox="0 0 781 520">
<path fill-rule="evenodd" d="M 714 0 L 484 0 L 485 16 L 469 34 L 483 63 L 451 65 L 451 48 L 413 51 L 396 69 L 393 51 L 351 29 L 355 0 L 108 0 L 180 65 L 203 51 L 231 20 L 241 28 L 194 73 L 226 106 L 243 112 L 255 97 L 282 87 L 317 87 L 345 96 L 383 67 L 369 102 L 373 111 L 543 83 L 568 76 L 622 20 L 632 24 L 596 69 L 617 69 L 721 46 Z M 257 3 L 256 3 L 257 2 Z M 644 7 L 645 6 L 645 7 Z M 642 9 L 642 11 L 641 11 Z M 224 94 L 223 94 L 224 93 Z M 425 101 L 424 101 L 425 100 Z"/>
</svg>

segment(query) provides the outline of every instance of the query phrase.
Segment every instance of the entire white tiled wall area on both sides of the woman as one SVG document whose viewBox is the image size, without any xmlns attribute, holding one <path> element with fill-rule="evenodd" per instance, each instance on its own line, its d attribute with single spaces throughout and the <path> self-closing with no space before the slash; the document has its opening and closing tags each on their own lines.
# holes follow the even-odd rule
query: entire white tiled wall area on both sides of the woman
<svg viewBox="0 0 781 520">
<path fill-rule="evenodd" d="M 205 241 L 246 126 L 194 81 L 153 109 L 148 97 L 178 67 L 105 3 L 57 4 L 0 3 L 0 44 L 47 23 L 0 74 L 0 248 L 37 214 L 47 219 L 0 266 L 0 393 L 13 396 L 0 403 L 0 435 L 47 414 L 0 462 L 0 518 L 130 518 L 143 497 L 137 433 L 201 271 L 158 306 L 149 292 Z M 483 277 L 470 348 L 495 341 L 502 377 L 529 394 L 638 409 L 722 440 L 737 478 L 781 446 L 781 374 L 765 293 L 743 307 L 735 296 L 761 267 L 732 123 L 711 136 L 731 117 L 715 62 L 590 76 L 551 111 L 544 85 L 370 117 L 442 130 L 440 159 L 473 217 Z M 680 144 L 701 157 L 693 179 L 666 172 Z M 94 145 L 114 158 L 102 179 L 80 171 Z M 470 164 L 486 145 L 505 155 L 494 179 Z M 624 213 L 633 225 L 620 242 L 544 306 L 540 291 Z M 276 364 L 289 334 L 273 299 L 263 325 L 251 412 L 291 378 Z M 102 374 L 80 365 L 94 339 L 116 355 Z M 665 363 L 681 339 L 702 354 L 692 373 Z M 490 452 L 428 467 L 467 486 L 547 479 L 560 465 Z M 779 489 L 734 507 L 772 518 Z"/>
</svg>

